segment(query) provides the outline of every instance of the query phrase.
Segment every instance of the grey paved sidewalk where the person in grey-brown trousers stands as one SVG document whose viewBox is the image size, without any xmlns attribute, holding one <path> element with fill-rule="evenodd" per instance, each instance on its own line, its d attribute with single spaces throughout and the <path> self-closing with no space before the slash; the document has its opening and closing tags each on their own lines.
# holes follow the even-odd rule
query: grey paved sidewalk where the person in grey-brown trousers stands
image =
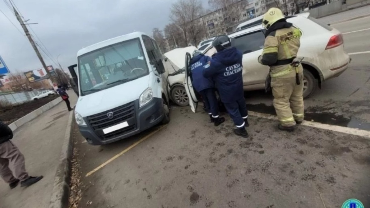
<svg viewBox="0 0 370 208">
<path fill-rule="evenodd" d="M 71 107 L 74 107 L 77 96 L 72 90 L 68 94 Z M 0 208 L 49 206 L 68 116 L 62 101 L 14 132 L 12 141 L 26 158 L 26 170 L 32 176 L 43 175 L 44 178 L 28 188 L 18 185 L 12 190 L 0 180 Z"/>
</svg>

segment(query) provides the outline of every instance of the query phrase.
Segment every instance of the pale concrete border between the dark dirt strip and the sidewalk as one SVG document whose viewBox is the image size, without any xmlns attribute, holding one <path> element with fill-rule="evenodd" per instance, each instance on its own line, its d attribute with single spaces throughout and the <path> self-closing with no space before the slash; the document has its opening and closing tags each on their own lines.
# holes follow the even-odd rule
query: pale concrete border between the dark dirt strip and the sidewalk
<svg viewBox="0 0 370 208">
<path fill-rule="evenodd" d="M 40 108 L 37 108 L 36 110 L 32 111 L 31 113 L 28 113 L 27 115 L 23 116 L 22 118 L 14 121 L 13 123 L 9 124 L 8 126 L 12 131 L 15 131 L 17 128 L 23 126 L 28 121 L 33 120 L 34 118 L 38 117 L 45 111 L 49 110 L 50 108 L 54 107 L 55 105 L 59 104 L 62 101 L 61 97 L 56 98 L 53 101 L 50 101 L 49 103 L 41 106 Z"/>
</svg>

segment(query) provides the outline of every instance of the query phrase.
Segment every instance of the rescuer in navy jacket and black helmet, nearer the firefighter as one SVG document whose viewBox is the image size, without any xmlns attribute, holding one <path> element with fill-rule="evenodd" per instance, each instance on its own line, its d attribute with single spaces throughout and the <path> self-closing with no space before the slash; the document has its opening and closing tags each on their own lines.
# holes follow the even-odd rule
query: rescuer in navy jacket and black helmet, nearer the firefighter
<svg viewBox="0 0 370 208">
<path fill-rule="evenodd" d="M 203 76 L 215 80 L 221 101 L 237 127 L 234 133 L 248 138 L 245 129 L 249 124 L 243 95 L 243 54 L 235 47 L 231 47 L 230 38 L 226 35 L 217 36 L 212 46 L 216 48 L 217 53 L 205 66 Z"/>
</svg>

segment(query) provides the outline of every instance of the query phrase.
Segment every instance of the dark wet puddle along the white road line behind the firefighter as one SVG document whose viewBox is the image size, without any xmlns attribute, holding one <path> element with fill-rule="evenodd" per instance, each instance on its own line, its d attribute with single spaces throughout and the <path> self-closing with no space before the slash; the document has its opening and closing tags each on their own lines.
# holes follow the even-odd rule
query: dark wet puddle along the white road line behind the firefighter
<svg viewBox="0 0 370 208">
<path fill-rule="evenodd" d="M 263 103 L 246 104 L 249 111 L 276 115 L 275 108 Z M 322 124 L 338 125 L 350 128 L 359 128 L 362 130 L 370 130 L 370 124 L 364 123 L 356 118 L 346 118 L 343 115 L 321 111 L 318 108 L 310 107 L 309 111 L 305 110 L 305 120 L 315 121 Z"/>
</svg>

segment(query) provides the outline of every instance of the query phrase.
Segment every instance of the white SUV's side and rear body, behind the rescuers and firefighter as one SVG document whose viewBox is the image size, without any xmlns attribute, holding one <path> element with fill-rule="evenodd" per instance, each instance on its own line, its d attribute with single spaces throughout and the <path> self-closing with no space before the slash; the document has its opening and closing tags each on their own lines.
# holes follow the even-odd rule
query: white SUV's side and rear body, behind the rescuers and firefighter
<svg viewBox="0 0 370 208">
<path fill-rule="evenodd" d="M 287 21 L 302 31 L 298 56 L 304 57 L 303 97 L 307 97 L 324 80 L 337 77 L 347 69 L 351 59 L 343 49 L 342 34 L 320 22 L 309 13 L 287 16 Z M 269 73 L 269 67 L 258 63 L 265 42 L 265 29 L 261 25 L 229 34 L 232 45 L 243 53 L 244 90 L 262 90 Z M 207 56 L 216 53 L 210 46 L 204 52 Z"/>
</svg>

